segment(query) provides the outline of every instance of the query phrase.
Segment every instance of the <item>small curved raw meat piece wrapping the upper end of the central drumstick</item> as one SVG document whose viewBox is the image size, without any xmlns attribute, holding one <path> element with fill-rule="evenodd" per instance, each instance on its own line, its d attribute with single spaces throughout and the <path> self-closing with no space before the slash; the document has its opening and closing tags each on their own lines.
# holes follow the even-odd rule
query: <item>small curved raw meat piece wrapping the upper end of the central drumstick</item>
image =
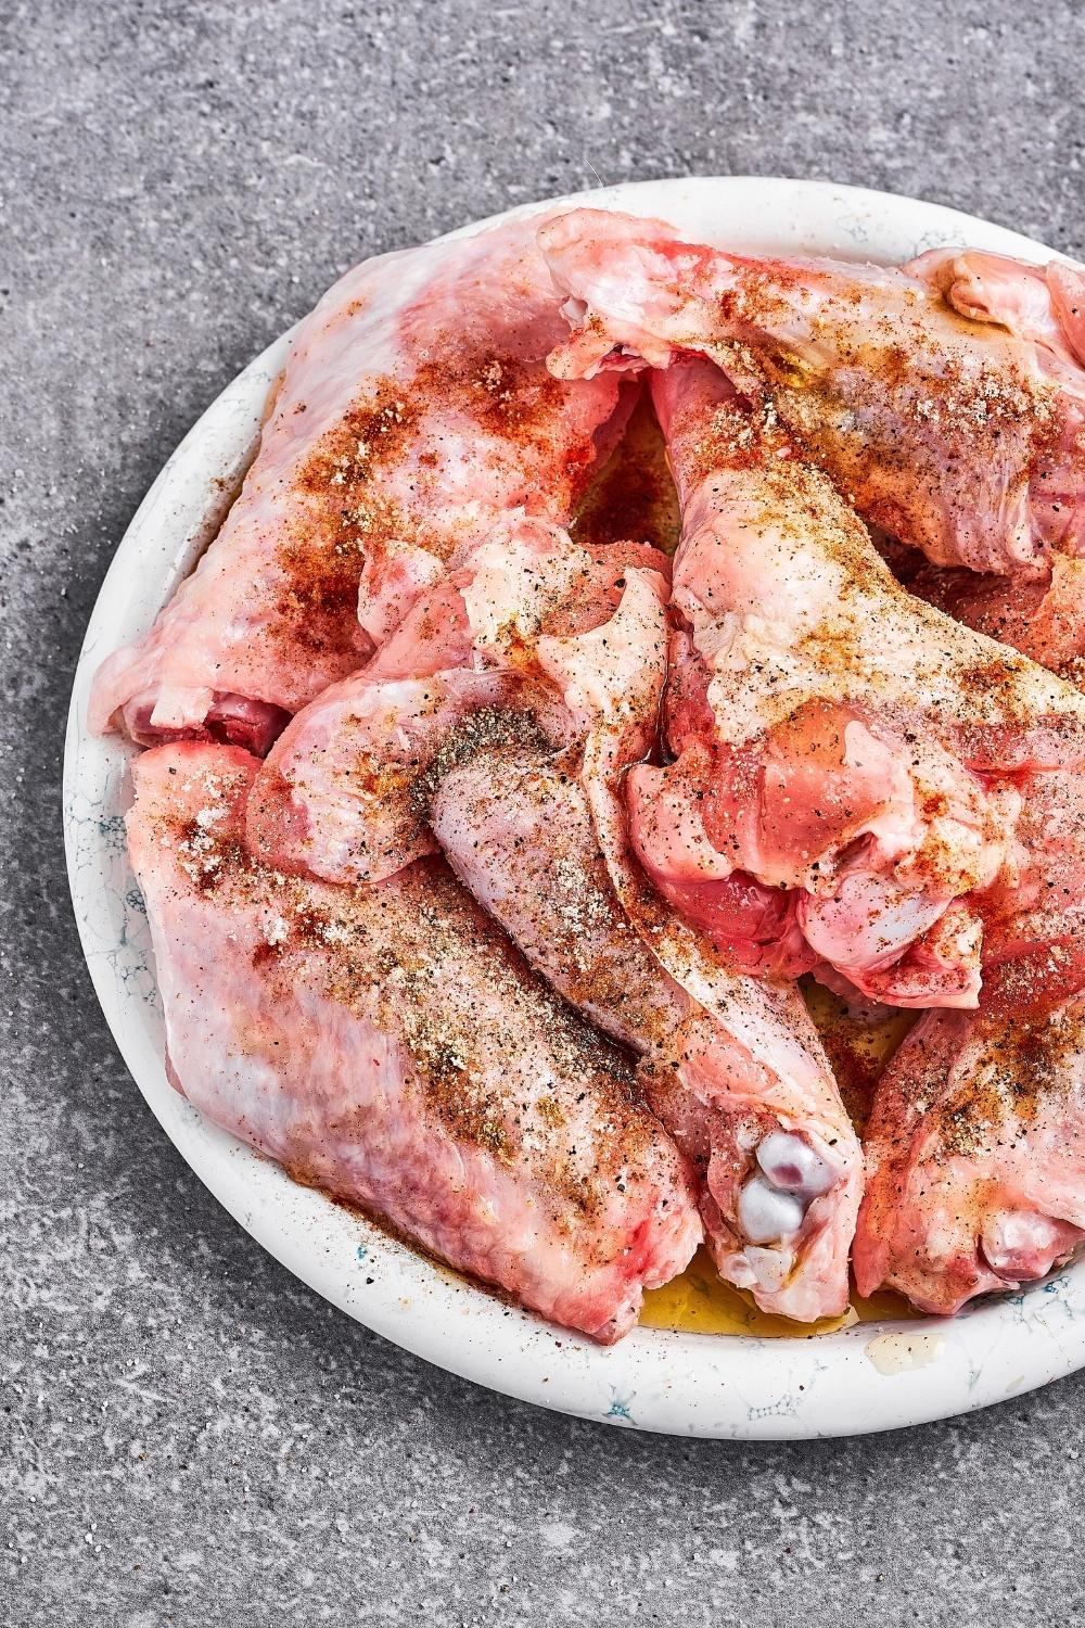
<svg viewBox="0 0 1085 1628">
<path fill-rule="evenodd" d="M 498 739 L 564 744 L 576 707 L 538 659 L 540 637 L 612 615 L 641 544 L 584 547 L 509 521 L 412 607 L 374 661 L 293 720 L 249 804 L 254 851 L 280 869 L 374 882 L 434 851 L 428 798 L 446 765 Z"/>
</svg>

